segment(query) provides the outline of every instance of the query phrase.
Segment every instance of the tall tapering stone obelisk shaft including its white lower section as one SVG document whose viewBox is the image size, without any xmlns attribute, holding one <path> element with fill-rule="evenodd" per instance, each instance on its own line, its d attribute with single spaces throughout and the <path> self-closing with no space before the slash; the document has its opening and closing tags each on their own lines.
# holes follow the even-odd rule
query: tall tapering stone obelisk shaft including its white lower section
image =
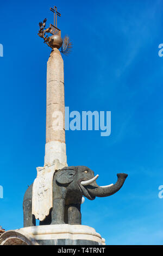
<svg viewBox="0 0 163 256">
<path fill-rule="evenodd" d="M 45 166 L 58 160 L 67 166 L 65 144 L 64 62 L 54 48 L 47 62 Z"/>
</svg>

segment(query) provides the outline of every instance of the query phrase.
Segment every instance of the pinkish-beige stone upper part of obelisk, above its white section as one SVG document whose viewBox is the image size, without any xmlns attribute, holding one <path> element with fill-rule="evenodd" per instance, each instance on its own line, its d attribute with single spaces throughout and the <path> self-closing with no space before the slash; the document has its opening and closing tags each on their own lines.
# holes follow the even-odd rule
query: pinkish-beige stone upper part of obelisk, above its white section
<svg viewBox="0 0 163 256">
<path fill-rule="evenodd" d="M 65 120 L 64 62 L 57 48 L 51 52 L 47 62 L 46 143 L 65 143 L 65 122 L 63 121 L 62 131 L 54 131 L 52 127 L 52 115 L 55 111 L 61 111 Z"/>
</svg>

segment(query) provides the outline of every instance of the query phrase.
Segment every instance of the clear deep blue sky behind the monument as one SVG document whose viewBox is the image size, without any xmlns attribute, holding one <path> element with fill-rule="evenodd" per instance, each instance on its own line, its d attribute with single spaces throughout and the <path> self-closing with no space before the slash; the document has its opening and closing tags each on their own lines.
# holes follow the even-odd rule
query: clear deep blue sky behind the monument
<svg viewBox="0 0 163 256">
<path fill-rule="evenodd" d="M 46 62 L 51 52 L 37 35 L 57 5 L 62 36 L 73 51 L 64 58 L 65 105 L 70 111 L 111 111 L 111 135 L 66 131 L 68 165 L 85 165 L 98 184 L 129 174 L 119 192 L 88 199 L 82 222 L 108 245 L 162 245 L 163 43 L 162 1 L 1 1 L 4 57 L 1 74 L 0 225 L 23 226 L 27 185 L 43 166 Z"/>
</svg>

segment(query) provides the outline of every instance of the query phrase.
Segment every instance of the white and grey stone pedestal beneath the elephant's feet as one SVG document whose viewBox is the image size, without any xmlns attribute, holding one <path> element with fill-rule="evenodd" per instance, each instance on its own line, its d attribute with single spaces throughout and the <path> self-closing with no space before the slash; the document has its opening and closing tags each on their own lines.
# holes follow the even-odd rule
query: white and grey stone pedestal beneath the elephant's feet
<svg viewBox="0 0 163 256">
<path fill-rule="evenodd" d="M 0 245 L 105 245 L 105 239 L 86 225 L 41 225 L 9 230 Z"/>
</svg>

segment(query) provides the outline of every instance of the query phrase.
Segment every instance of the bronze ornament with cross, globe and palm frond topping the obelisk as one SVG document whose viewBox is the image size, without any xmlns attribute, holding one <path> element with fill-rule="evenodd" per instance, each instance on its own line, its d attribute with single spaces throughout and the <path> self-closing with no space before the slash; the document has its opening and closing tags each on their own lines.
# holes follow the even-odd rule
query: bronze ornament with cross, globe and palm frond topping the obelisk
<svg viewBox="0 0 163 256">
<path fill-rule="evenodd" d="M 38 35 L 44 39 L 45 44 L 49 47 L 53 48 L 60 48 L 61 53 L 68 56 L 71 52 L 72 42 L 70 41 L 69 36 L 65 35 L 64 40 L 61 38 L 61 30 L 57 27 L 57 16 L 61 16 L 60 13 L 57 11 L 57 7 L 54 6 L 50 8 L 50 10 L 54 13 L 54 25 L 50 24 L 48 28 L 46 28 L 47 19 L 44 19 L 43 22 L 39 22 L 39 33 Z M 51 36 L 48 36 L 48 33 L 51 33 Z"/>
</svg>

